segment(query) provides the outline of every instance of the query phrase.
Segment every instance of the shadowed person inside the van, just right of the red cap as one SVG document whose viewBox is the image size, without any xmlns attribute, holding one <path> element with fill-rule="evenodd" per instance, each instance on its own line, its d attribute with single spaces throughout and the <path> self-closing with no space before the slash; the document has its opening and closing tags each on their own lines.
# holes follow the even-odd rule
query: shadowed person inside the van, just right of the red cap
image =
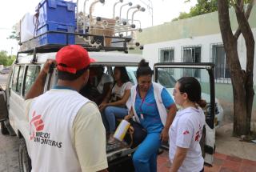
<svg viewBox="0 0 256 172">
<path fill-rule="evenodd" d="M 113 79 L 104 73 L 103 66 L 91 66 L 88 83 L 82 88 L 80 94 L 100 105 L 111 90 L 112 83 Z"/>
</svg>

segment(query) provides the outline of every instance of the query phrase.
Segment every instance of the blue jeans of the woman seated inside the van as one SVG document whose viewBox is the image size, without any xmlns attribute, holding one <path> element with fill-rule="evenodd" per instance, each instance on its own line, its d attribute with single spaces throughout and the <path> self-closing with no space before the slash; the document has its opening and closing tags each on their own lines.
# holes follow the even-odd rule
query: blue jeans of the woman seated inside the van
<svg viewBox="0 0 256 172">
<path fill-rule="evenodd" d="M 115 130 L 115 118 L 125 118 L 125 116 L 128 114 L 128 110 L 123 107 L 118 107 L 118 106 L 107 106 L 106 109 L 104 110 L 104 116 L 102 120 L 104 123 L 104 120 L 106 120 L 105 126 L 106 130 L 110 130 L 110 133 L 114 133 Z"/>
</svg>

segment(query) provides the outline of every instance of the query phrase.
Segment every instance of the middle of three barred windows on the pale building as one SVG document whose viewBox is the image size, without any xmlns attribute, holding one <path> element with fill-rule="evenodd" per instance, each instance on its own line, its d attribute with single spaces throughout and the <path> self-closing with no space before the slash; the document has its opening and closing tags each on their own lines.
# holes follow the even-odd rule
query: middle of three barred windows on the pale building
<svg viewBox="0 0 256 172">
<path fill-rule="evenodd" d="M 186 46 L 182 47 L 182 62 L 201 62 L 201 46 Z M 183 76 L 194 76 L 200 78 L 200 70 L 184 69 Z"/>
</svg>

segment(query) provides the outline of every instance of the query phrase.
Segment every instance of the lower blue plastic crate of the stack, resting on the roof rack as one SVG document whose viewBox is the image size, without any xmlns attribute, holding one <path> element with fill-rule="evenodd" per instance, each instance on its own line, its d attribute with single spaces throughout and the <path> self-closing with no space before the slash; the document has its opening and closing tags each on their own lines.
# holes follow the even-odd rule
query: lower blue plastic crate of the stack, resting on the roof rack
<svg viewBox="0 0 256 172">
<path fill-rule="evenodd" d="M 66 45 L 66 44 L 74 44 L 74 34 L 44 34 L 47 31 L 63 31 L 63 32 L 71 32 L 74 33 L 75 26 L 69 26 L 69 25 L 61 25 L 56 23 L 48 23 L 45 26 L 42 26 L 37 31 L 37 35 L 43 34 L 39 37 L 39 44 L 41 46 L 49 45 L 49 44 L 60 44 L 60 45 Z M 68 38 L 68 40 L 66 39 Z"/>
</svg>

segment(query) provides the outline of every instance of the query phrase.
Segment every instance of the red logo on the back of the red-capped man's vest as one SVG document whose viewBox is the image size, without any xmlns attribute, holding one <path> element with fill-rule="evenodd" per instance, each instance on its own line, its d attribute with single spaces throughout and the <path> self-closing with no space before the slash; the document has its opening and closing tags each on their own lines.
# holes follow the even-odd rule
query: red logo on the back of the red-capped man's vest
<svg viewBox="0 0 256 172">
<path fill-rule="evenodd" d="M 30 140 L 35 137 L 36 132 L 43 130 L 44 123 L 42 121 L 41 114 L 36 115 L 35 111 L 32 114 L 32 119 L 30 121 Z"/>
</svg>

